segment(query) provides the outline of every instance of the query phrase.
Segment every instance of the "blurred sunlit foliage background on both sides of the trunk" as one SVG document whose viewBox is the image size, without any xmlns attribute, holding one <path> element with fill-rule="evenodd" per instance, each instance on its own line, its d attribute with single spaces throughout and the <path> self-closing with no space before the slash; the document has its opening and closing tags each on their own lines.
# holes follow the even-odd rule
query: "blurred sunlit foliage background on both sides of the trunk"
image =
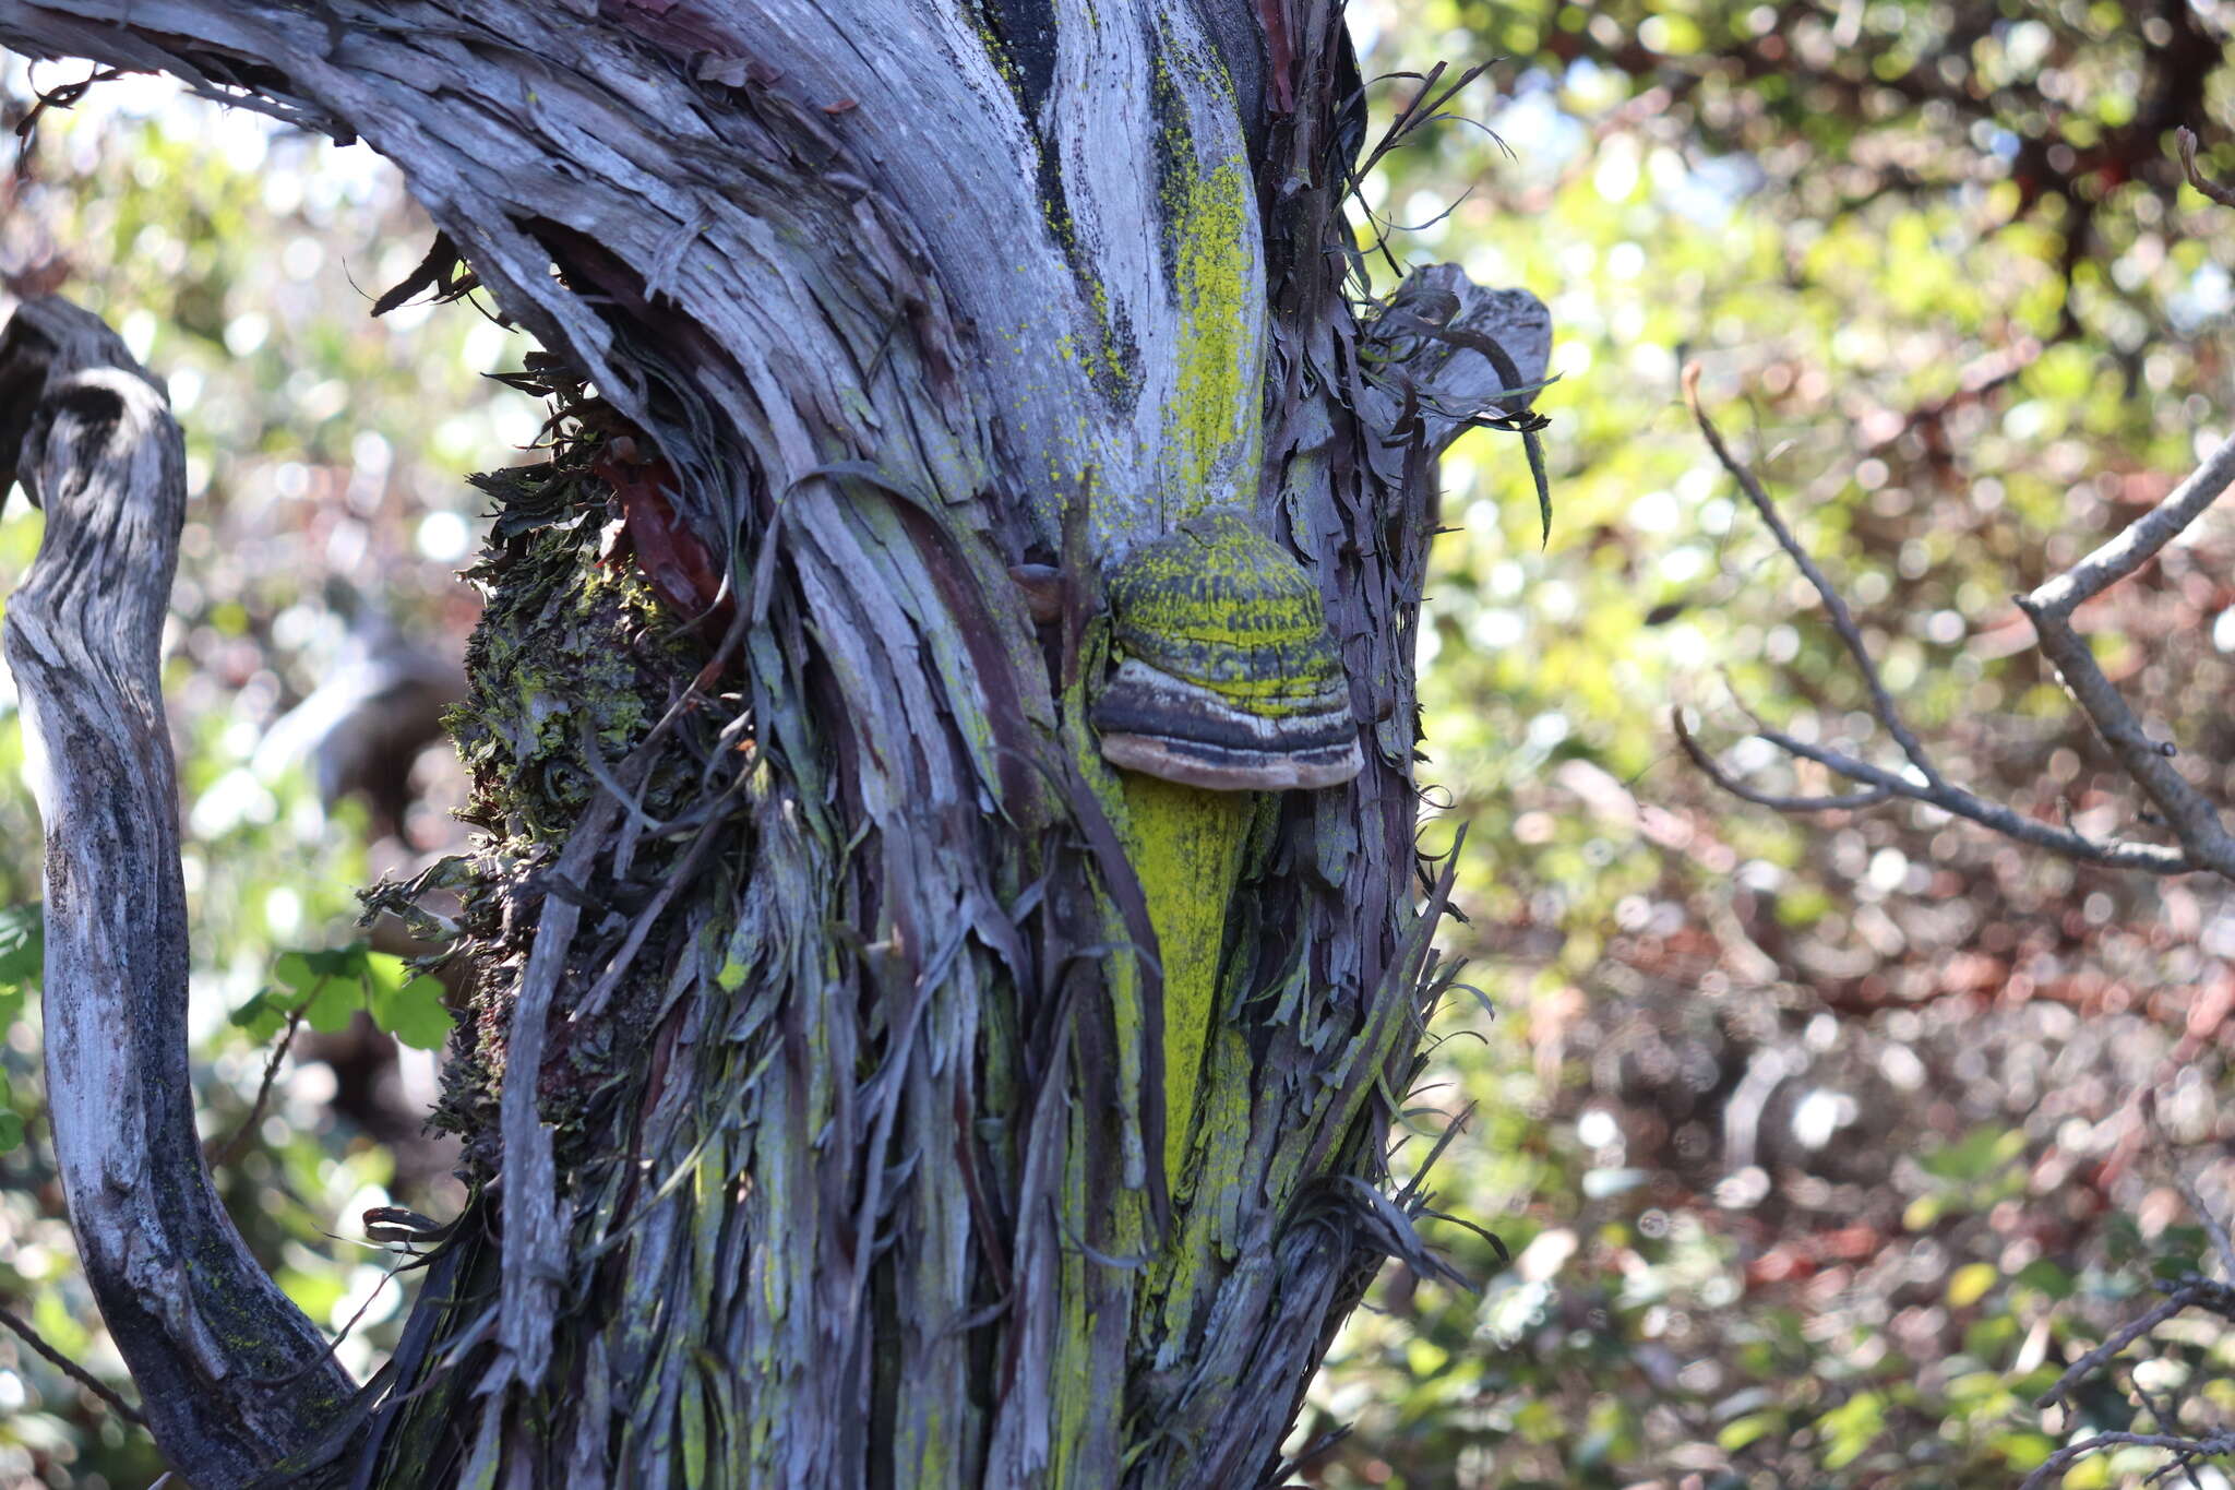
<svg viewBox="0 0 2235 1490">
<path fill-rule="evenodd" d="M 2195 127 L 2235 179 L 2235 4 L 1352 13 L 1383 121 L 1417 89 L 1404 74 L 1497 58 L 1368 183 L 1379 284 L 1457 259 L 1535 288 L 1562 380 L 1540 400 L 1551 543 L 1518 445 L 1471 436 L 1421 628 L 1428 840 L 1471 827 L 1451 940 L 1482 1001 L 1446 1010 L 1415 1101 L 1424 1137 L 1473 1110 L 1435 1188 L 1513 1262 L 1444 1226 L 1480 1291 L 1381 1280 L 1314 1387 L 1299 1479 L 2014 1486 L 2074 1434 L 2235 1425 L 2235 1351 L 2201 1322 L 2137 1351 L 2155 1412 L 2123 1381 L 2074 1419 L 2032 1407 L 2152 1271 L 2197 1264 L 2177 1173 L 2228 1197 L 2235 900 L 1927 809 L 1784 820 L 1708 786 L 1667 724 L 1692 710 L 1772 791 L 1826 782 L 1746 744 L 1746 710 L 1886 755 L 1815 594 L 1681 409 L 1699 360 L 1944 768 L 2043 820 L 2148 831 L 2007 596 L 2231 429 L 2235 217 L 2179 185 L 2170 132 Z M 34 85 L 85 71 L 16 63 L 0 87 L 20 116 Z M 458 1204 L 418 1133 L 431 1057 L 320 1019 L 335 1028 L 295 1034 L 232 1144 L 279 1039 L 255 1001 L 284 994 L 288 954 L 364 936 L 353 887 L 456 831 L 445 751 L 402 726 L 474 617 L 451 576 L 478 520 L 460 476 L 541 420 L 481 378 L 525 346 L 469 304 L 369 319 L 431 237 L 393 172 L 168 85 L 45 114 L 7 190 L 7 281 L 107 315 L 188 429 L 170 704 L 197 1081 L 235 1215 L 340 1327 L 384 1273 L 346 1240 L 358 1213 Z M 0 518 L 0 590 L 36 534 L 20 500 Z M 2083 621 L 2152 733 L 2235 800 L 2235 523 L 2197 525 Z M 369 722 L 402 733 L 351 753 Z M 0 842 L 0 902 L 36 898 L 11 706 Z M 9 1144 L 0 1112 L 0 1305 L 123 1383 L 60 1220 L 36 1001 L 0 992 L 0 1019 L 25 1124 Z M 353 1369 L 402 1284 L 344 1340 Z M 2121 1450 L 2065 1483 L 2159 1463 Z M 156 1468 L 0 1334 L 0 1490 Z"/>
</svg>

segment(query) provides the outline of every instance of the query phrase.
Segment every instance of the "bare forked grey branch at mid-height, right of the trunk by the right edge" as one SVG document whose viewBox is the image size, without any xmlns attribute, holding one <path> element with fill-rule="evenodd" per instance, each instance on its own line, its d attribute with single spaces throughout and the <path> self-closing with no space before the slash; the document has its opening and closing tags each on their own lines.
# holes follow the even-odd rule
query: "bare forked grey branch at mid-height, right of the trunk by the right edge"
<svg viewBox="0 0 2235 1490">
<path fill-rule="evenodd" d="M 1799 538 L 1792 536 L 1792 529 L 1777 512 L 1777 503 L 1770 500 L 1761 478 L 1730 451 L 1730 445 L 1725 445 L 1714 420 L 1708 416 L 1708 409 L 1701 404 L 1699 364 L 1685 369 L 1683 386 L 1685 400 L 1692 407 L 1692 418 L 1699 422 L 1701 436 L 1705 436 L 1714 458 L 1723 465 L 1732 480 L 1739 483 L 1746 500 L 1761 516 L 1770 536 L 1777 538 L 1777 547 L 1792 558 L 1815 588 L 1817 596 L 1824 601 L 1833 630 L 1839 634 L 1842 646 L 1846 646 L 1848 657 L 1855 659 L 1855 666 L 1871 693 L 1871 717 L 1877 719 L 1889 735 L 1893 735 L 1893 739 L 1902 746 L 1902 755 L 1909 760 L 1906 771 L 1889 771 L 1846 755 L 1844 751 L 1804 742 L 1757 722 L 1754 735 L 1759 739 L 1775 744 L 1792 757 L 1817 762 L 1826 771 L 1855 782 L 1862 789 L 1844 795 L 1788 797 L 1757 791 L 1739 782 L 1690 735 L 1678 715 L 1678 744 L 1692 764 L 1699 766 L 1716 786 L 1748 802 L 1790 813 L 1875 806 L 1891 797 L 1902 797 L 1938 806 L 1985 829 L 1994 829 L 2016 842 L 2090 865 L 2139 869 L 2146 873 L 2193 873 L 2210 869 L 2235 880 L 2235 838 L 2231 838 L 2226 827 L 2219 822 L 2217 806 L 2213 806 L 2195 786 L 2186 782 L 2186 777 L 2179 775 L 2179 771 L 2170 764 L 2172 746 L 2148 737 L 2141 722 L 2125 706 L 2125 699 L 2119 697 L 2119 690 L 2112 688 L 2110 679 L 2105 679 L 2103 670 L 2094 663 L 2094 655 L 2070 628 L 2070 614 L 2081 601 L 2101 594 L 2139 570 L 2159 550 L 2163 550 L 2175 534 L 2195 523 L 2204 509 L 2219 498 L 2228 483 L 2235 480 L 2235 440 L 2224 442 L 2188 480 L 2175 487 L 2163 503 L 2152 507 L 2117 538 L 2087 554 L 2087 558 L 2076 563 L 2067 574 L 2052 579 L 2029 596 L 2018 596 L 2018 608 L 2034 621 L 2034 630 L 2041 637 L 2041 650 L 2063 670 L 2065 684 L 2072 688 L 2072 697 L 2079 701 L 2081 710 L 2110 744 L 2128 775 L 2132 775 L 2134 782 L 2150 795 L 2166 822 L 2172 827 L 2175 838 L 2179 838 L 2179 847 L 2172 847 L 2123 838 L 2087 838 L 2067 827 L 2061 829 L 2027 818 L 2007 804 L 1989 802 L 1987 797 L 1980 797 L 1978 793 L 1942 777 L 1915 730 L 1911 730 L 1906 719 L 1902 719 L 1900 706 L 1893 701 L 1893 695 L 1877 670 L 1877 661 L 1871 657 L 1868 643 L 1864 641 L 1862 628 L 1855 623 L 1846 599 L 1837 592 L 1830 579 L 1826 579 L 1824 570 L 1815 563 L 1808 550 L 1801 547 Z"/>
</svg>

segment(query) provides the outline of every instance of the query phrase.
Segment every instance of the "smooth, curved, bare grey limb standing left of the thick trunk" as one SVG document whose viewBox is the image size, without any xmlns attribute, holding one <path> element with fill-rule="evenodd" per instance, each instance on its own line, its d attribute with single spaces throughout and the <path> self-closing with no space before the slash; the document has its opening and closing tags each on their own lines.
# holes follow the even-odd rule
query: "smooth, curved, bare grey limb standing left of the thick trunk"
<svg viewBox="0 0 2235 1490">
<path fill-rule="evenodd" d="M 186 885 L 156 641 L 186 516 L 179 427 L 96 317 L 0 335 L 0 471 L 47 509 L 9 596 L 47 824 L 47 1101 L 85 1278 L 172 1463 L 203 1490 L 302 1450 L 353 1392 L 210 1188 L 186 1066 Z M 4 491 L 4 487 L 0 487 Z"/>
</svg>

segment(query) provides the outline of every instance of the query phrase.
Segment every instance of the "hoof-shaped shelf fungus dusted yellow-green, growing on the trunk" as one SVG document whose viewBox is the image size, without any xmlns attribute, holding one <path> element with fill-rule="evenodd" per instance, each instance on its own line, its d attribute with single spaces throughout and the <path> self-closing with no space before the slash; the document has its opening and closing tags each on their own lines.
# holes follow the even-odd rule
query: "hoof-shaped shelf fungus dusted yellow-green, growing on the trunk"
<svg viewBox="0 0 2235 1490">
<path fill-rule="evenodd" d="M 1142 543 L 1102 579 L 1118 668 L 1091 722 L 1113 766 L 1211 791 L 1339 786 L 1363 766 L 1319 585 L 1240 516 Z"/>
</svg>

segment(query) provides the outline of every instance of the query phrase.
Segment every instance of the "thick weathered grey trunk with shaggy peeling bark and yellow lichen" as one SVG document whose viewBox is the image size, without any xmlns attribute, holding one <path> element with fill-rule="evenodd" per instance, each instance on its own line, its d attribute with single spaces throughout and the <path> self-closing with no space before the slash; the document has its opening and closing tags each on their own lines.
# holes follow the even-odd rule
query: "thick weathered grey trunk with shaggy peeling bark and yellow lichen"
<svg viewBox="0 0 2235 1490">
<path fill-rule="evenodd" d="M 476 1195 L 288 1472 L 1272 1477 L 1375 1262 L 1433 1264 L 1383 1195 L 1442 983 L 1430 474 L 1544 342 L 1455 270 L 1354 319 L 1339 13 L 0 0 L 0 40 L 362 134 L 595 384 L 552 371 L 552 462 L 487 483 L 440 1115 Z M 1104 588 L 1171 532 L 1312 576 L 1352 780 L 1104 760 L 1109 666 L 1147 655 Z M 1167 637 L 1187 666 L 1272 614 L 1173 585 L 1229 605 Z M 1294 717 L 1249 701 L 1214 753 Z M 1223 784 L 1339 775 L 1252 771 Z M 159 1416 L 206 1488 L 241 1483 L 197 1450 L 235 1412 Z"/>
</svg>

